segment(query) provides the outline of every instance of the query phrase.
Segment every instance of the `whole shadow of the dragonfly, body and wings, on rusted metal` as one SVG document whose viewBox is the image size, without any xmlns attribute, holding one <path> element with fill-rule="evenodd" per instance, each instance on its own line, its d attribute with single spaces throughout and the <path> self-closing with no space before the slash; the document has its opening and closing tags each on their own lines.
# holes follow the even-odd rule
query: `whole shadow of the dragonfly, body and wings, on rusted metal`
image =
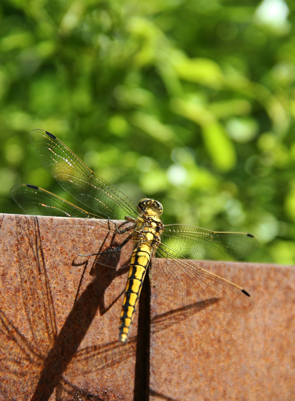
<svg viewBox="0 0 295 401">
<path fill-rule="evenodd" d="M 137 337 L 131 336 L 124 346 L 114 341 L 79 350 L 78 347 L 96 312 L 102 316 L 115 302 L 104 305 L 106 285 L 128 267 L 118 271 L 105 269 L 106 263 L 110 264 L 110 259 L 117 261 L 119 255 L 98 255 L 92 264 L 92 281 L 77 298 L 58 334 L 39 221 L 37 217 L 19 217 L 16 223 L 16 238 L 21 244 L 16 251 L 20 276 L 18 294 L 29 331 L 22 334 L 5 311 L 0 310 L 0 391 L 6 399 L 13 399 L 17 383 L 21 382 L 23 386 L 18 394 L 22 399 L 28 399 L 35 389 L 33 400 L 49 399 L 53 392 L 56 400 L 100 400 L 97 393 L 92 394 L 71 381 L 88 374 L 99 375 L 105 368 L 125 363 L 136 355 Z M 115 245 L 116 242 L 111 241 L 110 246 Z M 88 261 L 84 263 L 89 264 Z M 106 271 L 108 277 L 105 277 Z M 106 285 L 102 283 L 103 279 Z M 151 333 L 169 329 L 204 307 L 205 304 L 199 302 L 155 316 L 151 320 Z"/>
</svg>

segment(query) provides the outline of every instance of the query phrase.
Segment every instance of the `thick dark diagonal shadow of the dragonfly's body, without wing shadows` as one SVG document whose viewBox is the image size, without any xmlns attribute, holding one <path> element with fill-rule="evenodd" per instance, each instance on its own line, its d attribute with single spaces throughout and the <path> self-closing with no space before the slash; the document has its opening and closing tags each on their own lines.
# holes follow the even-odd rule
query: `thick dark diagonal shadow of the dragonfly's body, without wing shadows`
<svg viewBox="0 0 295 401">
<path fill-rule="evenodd" d="M 117 246 L 118 245 L 114 243 L 114 238 L 112 238 L 110 249 Z M 100 251 L 103 247 L 104 243 Z M 105 251 L 106 250 L 104 250 L 104 252 Z M 110 258 L 112 259 L 112 265 L 116 266 L 119 262 L 120 252 L 97 255 L 90 270 L 93 279 L 90 284 L 86 286 L 81 295 L 78 297 L 76 296 L 73 308 L 44 360 L 43 369 L 32 400 L 49 399 L 51 393 L 60 382 L 62 374 L 76 354 L 97 312 L 99 311 L 100 316 L 105 314 L 122 295 L 122 293 L 119 294 L 109 306 L 105 306 L 104 293 L 106 289 L 113 282 L 114 278 L 128 270 L 128 266 L 122 267 L 119 270 L 116 270 L 116 268 L 106 269 L 107 263 L 110 263 Z M 77 266 L 85 264 L 85 271 L 88 263 L 87 260 L 83 263 L 77 263 L 75 261 L 72 265 Z"/>
</svg>

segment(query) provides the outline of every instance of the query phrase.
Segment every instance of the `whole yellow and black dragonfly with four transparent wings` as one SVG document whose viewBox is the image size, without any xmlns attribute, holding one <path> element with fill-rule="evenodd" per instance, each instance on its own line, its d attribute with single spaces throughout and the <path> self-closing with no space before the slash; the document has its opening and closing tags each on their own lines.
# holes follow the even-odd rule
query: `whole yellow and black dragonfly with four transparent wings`
<svg viewBox="0 0 295 401">
<path fill-rule="evenodd" d="M 206 309 L 235 313 L 250 312 L 254 308 L 253 299 L 246 290 L 201 269 L 192 260 L 240 259 L 258 249 L 254 235 L 216 232 L 182 224 L 164 225 L 163 206 L 159 201 L 143 198 L 134 203 L 47 131 L 32 130 L 29 139 L 55 180 L 91 211 L 43 188 L 19 184 L 10 193 L 26 213 L 130 223 L 127 229 L 116 228 L 119 233 L 128 233 L 121 247 L 127 241 L 134 243 L 120 314 L 120 342 L 128 340 L 146 271 L 149 271 L 151 286 L 175 304 L 188 306 L 201 302 Z M 155 263 L 156 257 L 161 258 L 161 263 Z"/>
</svg>

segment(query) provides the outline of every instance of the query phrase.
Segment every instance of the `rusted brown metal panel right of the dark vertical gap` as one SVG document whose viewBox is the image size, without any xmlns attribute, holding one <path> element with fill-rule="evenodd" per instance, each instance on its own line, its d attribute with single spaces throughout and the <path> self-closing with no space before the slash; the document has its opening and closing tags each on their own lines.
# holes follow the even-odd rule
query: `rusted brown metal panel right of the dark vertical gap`
<svg viewBox="0 0 295 401">
<path fill-rule="evenodd" d="M 151 289 L 150 400 L 293 399 L 295 268 L 198 265 L 242 286 L 254 310 L 181 309 Z"/>
</svg>

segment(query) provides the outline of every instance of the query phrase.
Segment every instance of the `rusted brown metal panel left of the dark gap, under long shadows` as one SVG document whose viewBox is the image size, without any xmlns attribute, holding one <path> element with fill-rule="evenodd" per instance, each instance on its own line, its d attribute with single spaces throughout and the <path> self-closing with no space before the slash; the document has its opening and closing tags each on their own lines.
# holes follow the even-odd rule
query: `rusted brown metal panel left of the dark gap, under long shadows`
<svg viewBox="0 0 295 401">
<path fill-rule="evenodd" d="M 96 256 L 75 259 L 115 245 L 110 228 L 86 219 L 2 217 L 1 400 L 133 399 L 137 319 L 128 344 L 119 344 L 122 298 L 116 302 L 128 247 L 125 255 L 100 256 L 115 269 L 94 264 Z"/>
</svg>

